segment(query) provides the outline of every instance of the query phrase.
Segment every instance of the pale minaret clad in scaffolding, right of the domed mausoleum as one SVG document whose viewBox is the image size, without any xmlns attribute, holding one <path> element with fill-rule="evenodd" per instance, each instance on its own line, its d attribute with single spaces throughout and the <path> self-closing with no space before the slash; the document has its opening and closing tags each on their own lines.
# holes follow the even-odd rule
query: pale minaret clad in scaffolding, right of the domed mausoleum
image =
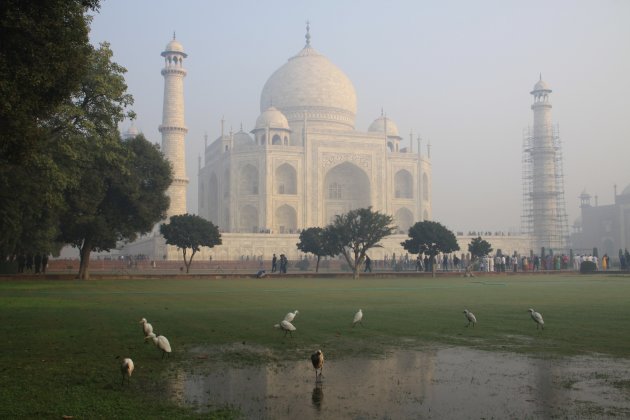
<svg viewBox="0 0 630 420">
<path fill-rule="evenodd" d="M 566 246 L 566 211 L 559 141 L 551 121 L 551 89 L 542 80 L 534 90 L 531 137 L 531 234 L 536 252 L 541 247 L 560 251 Z"/>
</svg>

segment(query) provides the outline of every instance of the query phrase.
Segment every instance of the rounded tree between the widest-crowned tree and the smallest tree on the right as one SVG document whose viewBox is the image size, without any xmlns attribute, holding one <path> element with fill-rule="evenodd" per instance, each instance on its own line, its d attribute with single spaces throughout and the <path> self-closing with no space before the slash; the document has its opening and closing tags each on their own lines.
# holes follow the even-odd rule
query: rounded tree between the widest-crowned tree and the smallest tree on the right
<svg viewBox="0 0 630 420">
<path fill-rule="evenodd" d="M 438 222 L 425 220 L 409 228 L 409 239 L 400 243 L 411 254 L 425 254 L 431 261 L 431 271 L 435 275 L 433 261 L 439 253 L 451 253 L 459 249 L 455 234 Z"/>
</svg>

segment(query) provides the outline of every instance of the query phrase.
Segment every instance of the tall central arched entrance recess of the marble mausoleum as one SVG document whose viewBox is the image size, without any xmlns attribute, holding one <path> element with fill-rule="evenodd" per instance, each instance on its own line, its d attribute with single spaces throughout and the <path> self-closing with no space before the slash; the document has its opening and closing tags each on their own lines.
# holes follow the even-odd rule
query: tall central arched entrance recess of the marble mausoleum
<svg viewBox="0 0 630 420">
<path fill-rule="evenodd" d="M 338 214 L 371 205 L 370 180 L 358 166 L 341 163 L 324 178 L 324 223 Z"/>
</svg>

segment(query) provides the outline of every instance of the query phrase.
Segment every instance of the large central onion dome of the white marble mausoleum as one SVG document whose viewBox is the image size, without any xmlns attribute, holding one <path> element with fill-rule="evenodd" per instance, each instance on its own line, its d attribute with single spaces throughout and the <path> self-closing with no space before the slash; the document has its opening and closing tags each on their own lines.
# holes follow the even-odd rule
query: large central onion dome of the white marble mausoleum
<svg viewBox="0 0 630 420">
<path fill-rule="evenodd" d="M 260 112 L 270 106 L 286 115 L 289 123 L 353 129 L 357 111 L 354 86 L 337 66 L 309 43 L 276 70 L 260 95 Z"/>
</svg>

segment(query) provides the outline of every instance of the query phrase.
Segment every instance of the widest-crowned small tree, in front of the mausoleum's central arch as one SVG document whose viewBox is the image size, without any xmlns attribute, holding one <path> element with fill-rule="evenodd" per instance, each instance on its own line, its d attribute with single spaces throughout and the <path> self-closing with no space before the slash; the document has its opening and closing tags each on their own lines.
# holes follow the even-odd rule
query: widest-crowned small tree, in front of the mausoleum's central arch
<svg viewBox="0 0 630 420">
<path fill-rule="evenodd" d="M 390 215 L 372 211 L 372 207 L 350 210 L 337 215 L 327 230 L 327 242 L 332 255 L 341 254 L 352 269 L 353 278 L 359 278 L 359 266 L 366 252 L 380 247 L 380 240 L 393 234 Z"/>
</svg>

